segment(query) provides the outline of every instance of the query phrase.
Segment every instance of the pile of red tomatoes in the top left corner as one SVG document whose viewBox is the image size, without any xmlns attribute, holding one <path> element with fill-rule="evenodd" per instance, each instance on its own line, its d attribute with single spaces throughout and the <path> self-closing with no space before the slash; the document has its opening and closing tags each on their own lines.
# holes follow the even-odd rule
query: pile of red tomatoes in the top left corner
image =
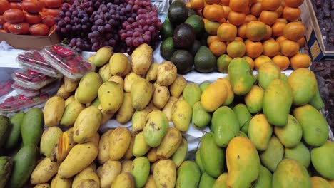
<svg viewBox="0 0 334 188">
<path fill-rule="evenodd" d="M 66 2 L 67 3 L 67 2 Z M 0 32 L 47 36 L 64 0 L 0 0 Z"/>
</svg>

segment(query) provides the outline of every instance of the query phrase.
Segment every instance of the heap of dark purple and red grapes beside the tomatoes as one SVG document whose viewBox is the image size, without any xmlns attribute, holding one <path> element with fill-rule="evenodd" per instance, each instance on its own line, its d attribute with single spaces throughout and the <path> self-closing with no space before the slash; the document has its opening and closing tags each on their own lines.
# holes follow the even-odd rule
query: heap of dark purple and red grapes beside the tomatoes
<svg viewBox="0 0 334 188">
<path fill-rule="evenodd" d="M 79 52 L 112 46 L 132 53 L 141 43 L 155 46 L 161 25 L 149 0 L 75 0 L 64 4 L 56 18 L 56 31 Z"/>
</svg>

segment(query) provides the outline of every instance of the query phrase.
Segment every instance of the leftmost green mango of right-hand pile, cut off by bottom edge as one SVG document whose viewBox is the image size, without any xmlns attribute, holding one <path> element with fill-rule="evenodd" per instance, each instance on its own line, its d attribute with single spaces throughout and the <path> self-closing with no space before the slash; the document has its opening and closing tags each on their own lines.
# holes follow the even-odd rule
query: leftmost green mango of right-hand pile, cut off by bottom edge
<svg viewBox="0 0 334 188">
<path fill-rule="evenodd" d="M 176 187 L 194 187 L 197 188 L 201 179 L 201 171 L 194 161 L 184 161 L 178 167 Z"/>
</svg>

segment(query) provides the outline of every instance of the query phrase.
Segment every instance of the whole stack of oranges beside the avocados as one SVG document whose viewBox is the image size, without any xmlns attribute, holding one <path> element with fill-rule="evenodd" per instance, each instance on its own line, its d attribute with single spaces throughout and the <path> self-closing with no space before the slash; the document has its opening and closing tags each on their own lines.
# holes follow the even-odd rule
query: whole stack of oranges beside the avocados
<svg viewBox="0 0 334 188">
<path fill-rule="evenodd" d="M 299 53 L 305 27 L 298 21 L 304 0 L 191 0 L 203 16 L 207 43 L 215 56 L 244 57 L 252 68 L 273 61 L 283 71 L 308 68 L 310 57 Z"/>
</svg>

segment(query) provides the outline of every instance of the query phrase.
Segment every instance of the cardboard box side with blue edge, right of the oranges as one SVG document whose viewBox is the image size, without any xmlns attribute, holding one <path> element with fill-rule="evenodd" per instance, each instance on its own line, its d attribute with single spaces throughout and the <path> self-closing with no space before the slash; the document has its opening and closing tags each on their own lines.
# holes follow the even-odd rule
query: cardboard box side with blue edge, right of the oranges
<svg viewBox="0 0 334 188">
<path fill-rule="evenodd" d="M 333 0 L 332 0 L 333 1 Z M 323 35 L 320 33 L 318 19 L 310 0 L 305 0 L 300 6 L 301 20 L 306 28 L 306 41 L 309 47 L 309 54 L 313 62 L 324 59 L 334 59 L 334 51 L 328 51 L 323 43 Z"/>
</svg>

